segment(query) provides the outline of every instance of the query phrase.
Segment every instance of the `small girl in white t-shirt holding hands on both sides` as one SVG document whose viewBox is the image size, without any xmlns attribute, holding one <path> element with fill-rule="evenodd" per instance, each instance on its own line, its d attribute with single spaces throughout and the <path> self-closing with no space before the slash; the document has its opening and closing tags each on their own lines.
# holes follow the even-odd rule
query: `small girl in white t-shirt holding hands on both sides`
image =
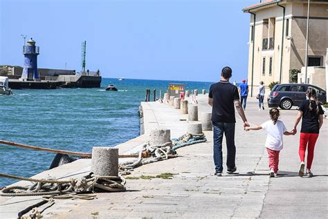
<svg viewBox="0 0 328 219">
<path fill-rule="evenodd" d="M 282 150 L 283 135 L 293 135 L 293 132 L 287 131 L 284 122 L 278 120 L 280 112 L 277 108 L 271 108 L 270 110 L 271 120 L 264 122 L 260 126 L 246 127 L 245 130 L 259 130 L 264 129 L 267 133 L 266 136 L 266 151 L 268 151 L 268 166 L 270 168 L 270 177 L 277 175 L 278 164 L 279 164 L 279 153 Z"/>
</svg>

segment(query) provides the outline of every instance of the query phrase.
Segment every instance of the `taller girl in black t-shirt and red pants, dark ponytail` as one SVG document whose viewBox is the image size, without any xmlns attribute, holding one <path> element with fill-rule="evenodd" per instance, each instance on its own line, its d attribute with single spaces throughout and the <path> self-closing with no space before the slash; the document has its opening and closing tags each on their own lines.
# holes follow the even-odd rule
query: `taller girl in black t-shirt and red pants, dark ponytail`
<svg viewBox="0 0 328 219">
<path fill-rule="evenodd" d="M 304 157 L 307 150 L 307 177 L 312 177 L 311 165 L 314 155 L 314 146 L 319 136 L 319 130 L 323 124 L 323 110 L 321 104 L 318 102 L 316 90 L 309 88 L 307 90 L 307 99 L 302 102 L 296 117 L 293 132 L 296 133 L 298 123 L 302 118 L 302 127 L 300 133 L 300 149 L 298 155 L 300 155 L 300 170 L 298 175 L 302 177 L 304 175 Z"/>
</svg>

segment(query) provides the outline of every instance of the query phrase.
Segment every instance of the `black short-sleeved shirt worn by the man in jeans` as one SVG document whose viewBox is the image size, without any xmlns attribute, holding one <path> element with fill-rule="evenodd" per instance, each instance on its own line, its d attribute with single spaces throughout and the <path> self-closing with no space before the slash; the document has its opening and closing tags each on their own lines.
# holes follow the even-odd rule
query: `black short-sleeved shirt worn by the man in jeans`
<svg viewBox="0 0 328 219">
<path fill-rule="evenodd" d="M 210 86 L 208 97 L 213 98 L 212 122 L 235 123 L 234 100 L 239 99 L 237 86 L 220 81 Z"/>
</svg>

